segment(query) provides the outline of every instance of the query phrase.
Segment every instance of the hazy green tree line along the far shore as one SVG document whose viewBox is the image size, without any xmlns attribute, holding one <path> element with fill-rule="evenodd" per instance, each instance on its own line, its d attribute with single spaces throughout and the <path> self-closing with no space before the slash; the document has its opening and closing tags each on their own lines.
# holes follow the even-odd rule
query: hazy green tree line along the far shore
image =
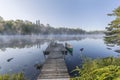
<svg viewBox="0 0 120 80">
<path fill-rule="evenodd" d="M 54 28 L 49 24 L 35 24 L 28 20 L 4 20 L 0 16 L 0 34 L 84 34 L 85 32 L 79 28 Z"/>
</svg>

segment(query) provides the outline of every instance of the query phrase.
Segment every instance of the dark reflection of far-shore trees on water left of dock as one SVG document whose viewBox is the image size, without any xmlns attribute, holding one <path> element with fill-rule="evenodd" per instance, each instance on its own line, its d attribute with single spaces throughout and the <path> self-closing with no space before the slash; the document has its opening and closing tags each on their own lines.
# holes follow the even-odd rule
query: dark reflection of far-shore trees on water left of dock
<svg viewBox="0 0 120 80">
<path fill-rule="evenodd" d="M 41 48 L 41 45 L 44 44 L 47 40 L 35 40 L 35 41 L 31 41 L 31 40 L 10 40 L 8 43 L 6 42 L 1 42 L 0 44 L 0 49 L 2 51 L 5 51 L 6 48 L 30 48 L 33 46 L 37 46 L 37 48 Z"/>
</svg>

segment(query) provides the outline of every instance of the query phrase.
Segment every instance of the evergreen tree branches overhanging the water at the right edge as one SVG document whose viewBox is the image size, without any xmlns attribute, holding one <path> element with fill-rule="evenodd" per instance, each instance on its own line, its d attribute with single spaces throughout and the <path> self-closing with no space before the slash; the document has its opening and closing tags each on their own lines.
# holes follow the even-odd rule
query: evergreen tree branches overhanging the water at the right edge
<svg viewBox="0 0 120 80">
<path fill-rule="evenodd" d="M 115 20 L 108 24 L 109 27 L 106 27 L 105 41 L 107 44 L 120 45 L 120 6 L 108 16 L 115 16 Z"/>
</svg>

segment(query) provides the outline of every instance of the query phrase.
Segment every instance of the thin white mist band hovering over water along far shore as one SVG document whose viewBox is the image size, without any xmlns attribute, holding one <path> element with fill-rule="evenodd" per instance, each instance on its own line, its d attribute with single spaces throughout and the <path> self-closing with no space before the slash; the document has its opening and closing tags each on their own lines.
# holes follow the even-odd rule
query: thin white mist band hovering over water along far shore
<svg viewBox="0 0 120 80">
<path fill-rule="evenodd" d="M 9 42 L 11 40 L 37 40 L 37 39 L 48 39 L 48 40 L 70 40 L 75 38 L 102 38 L 101 34 L 97 35 L 0 35 L 0 41 Z"/>
</svg>

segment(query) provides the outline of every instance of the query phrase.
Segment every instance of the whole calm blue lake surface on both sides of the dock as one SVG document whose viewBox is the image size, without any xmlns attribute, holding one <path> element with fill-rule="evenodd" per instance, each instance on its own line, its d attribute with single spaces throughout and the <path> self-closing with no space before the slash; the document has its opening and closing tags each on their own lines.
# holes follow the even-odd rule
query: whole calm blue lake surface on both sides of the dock
<svg viewBox="0 0 120 80">
<path fill-rule="evenodd" d="M 0 74 L 23 72 L 27 79 L 36 80 L 40 70 L 36 69 L 35 65 L 45 62 L 43 51 L 51 40 L 63 44 L 67 42 L 73 46 L 73 53 L 65 56 L 71 76 L 75 76 L 71 71 L 81 65 L 81 54 L 93 59 L 119 56 L 119 53 L 115 52 L 119 46 L 107 46 L 103 35 L 0 36 Z M 81 48 L 84 48 L 82 52 Z"/>
</svg>

